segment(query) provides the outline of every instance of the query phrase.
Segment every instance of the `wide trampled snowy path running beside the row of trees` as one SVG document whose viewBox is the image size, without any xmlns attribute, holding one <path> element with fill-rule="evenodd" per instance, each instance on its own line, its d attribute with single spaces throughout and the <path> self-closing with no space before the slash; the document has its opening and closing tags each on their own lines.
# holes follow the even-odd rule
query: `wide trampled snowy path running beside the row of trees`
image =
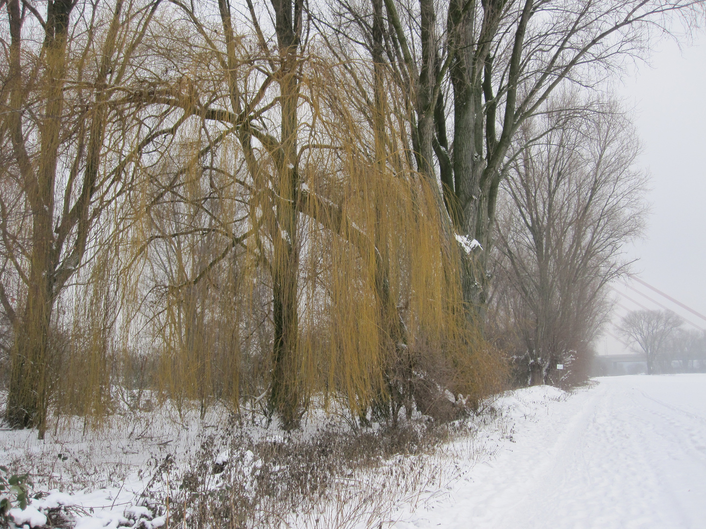
<svg viewBox="0 0 706 529">
<path fill-rule="evenodd" d="M 395 528 L 706 528 L 706 375 L 597 382 L 516 391 L 513 442 Z"/>
</svg>

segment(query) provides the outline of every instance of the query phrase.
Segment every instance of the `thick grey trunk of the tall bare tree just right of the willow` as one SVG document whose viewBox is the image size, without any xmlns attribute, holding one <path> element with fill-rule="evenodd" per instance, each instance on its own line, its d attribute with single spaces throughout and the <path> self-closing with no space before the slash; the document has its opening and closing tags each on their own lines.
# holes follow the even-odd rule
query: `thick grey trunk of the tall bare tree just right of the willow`
<svg viewBox="0 0 706 529">
<path fill-rule="evenodd" d="M 458 204 L 458 213 L 451 212 L 451 215 L 457 231 L 480 244 L 471 255 L 464 257 L 461 284 L 469 314 L 481 318 L 491 280 L 488 265 L 500 184 L 498 171 L 516 126 L 520 52 L 532 4 L 527 0 L 517 25 L 500 138 L 496 137 L 497 101 L 492 90 L 491 44 L 498 32 L 505 1 L 489 0 L 482 5 L 483 17 L 478 30 L 474 26 L 477 23 L 474 0 L 470 4 L 452 0 L 448 16 L 449 49 L 454 54 L 450 78 L 454 94 L 453 177 Z"/>
</svg>

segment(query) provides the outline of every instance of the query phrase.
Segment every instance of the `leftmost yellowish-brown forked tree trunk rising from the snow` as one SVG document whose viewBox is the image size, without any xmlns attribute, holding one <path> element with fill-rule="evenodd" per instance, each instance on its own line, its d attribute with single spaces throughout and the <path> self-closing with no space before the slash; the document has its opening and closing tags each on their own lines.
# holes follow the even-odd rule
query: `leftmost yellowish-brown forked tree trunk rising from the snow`
<svg viewBox="0 0 706 529">
<path fill-rule="evenodd" d="M 8 4 L 13 54 L 11 79 L 15 83 L 11 104 L 13 150 L 22 171 L 32 211 L 32 250 L 25 311 L 16 329 L 12 354 L 7 418 L 16 427 L 38 427 L 40 439 L 46 426 L 49 389 L 49 327 L 54 304 L 57 250 L 54 246 L 54 186 L 59 155 L 61 113 L 64 109 L 66 37 L 73 2 L 57 0 L 47 8 L 44 34 L 45 73 L 42 79 L 44 119 L 39 128 L 40 158 L 35 171 L 28 166 L 20 108 L 21 20 L 18 1 Z"/>
</svg>

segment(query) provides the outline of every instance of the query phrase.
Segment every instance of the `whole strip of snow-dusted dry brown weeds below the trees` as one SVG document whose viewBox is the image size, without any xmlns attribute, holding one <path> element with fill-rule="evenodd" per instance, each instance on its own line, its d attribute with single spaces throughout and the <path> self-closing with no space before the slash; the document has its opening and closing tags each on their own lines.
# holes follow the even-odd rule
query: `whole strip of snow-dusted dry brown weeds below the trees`
<svg viewBox="0 0 706 529">
<path fill-rule="evenodd" d="M 443 495 L 469 468 L 455 461 L 487 455 L 474 431 L 499 419 L 487 410 L 452 422 L 402 413 L 395 426 L 362 427 L 318 413 L 286 431 L 224 409 L 201 420 L 198 403 L 181 414 L 170 404 L 120 412 L 88 436 L 74 418 L 43 443 L 5 446 L 11 473 L 32 475 L 31 494 L 112 491 L 92 501 L 126 509 L 126 528 L 154 518 L 170 527 L 376 528 Z M 90 514 L 71 504 L 44 512 L 56 528 Z"/>
</svg>

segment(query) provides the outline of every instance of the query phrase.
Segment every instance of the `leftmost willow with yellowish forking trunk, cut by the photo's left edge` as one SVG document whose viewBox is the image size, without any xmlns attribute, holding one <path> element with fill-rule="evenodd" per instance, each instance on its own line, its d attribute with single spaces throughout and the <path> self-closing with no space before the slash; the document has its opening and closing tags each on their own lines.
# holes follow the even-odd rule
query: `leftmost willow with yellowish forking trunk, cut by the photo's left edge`
<svg viewBox="0 0 706 529">
<path fill-rule="evenodd" d="M 20 5 L 21 4 L 21 5 Z M 2 2 L 0 302 L 13 326 L 6 417 L 44 435 L 59 360 L 54 309 L 116 229 L 139 119 L 114 105 L 136 76 L 155 3 Z M 71 293 L 73 292 L 73 294 Z M 64 300 L 68 303 L 68 300 Z"/>
</svg>

